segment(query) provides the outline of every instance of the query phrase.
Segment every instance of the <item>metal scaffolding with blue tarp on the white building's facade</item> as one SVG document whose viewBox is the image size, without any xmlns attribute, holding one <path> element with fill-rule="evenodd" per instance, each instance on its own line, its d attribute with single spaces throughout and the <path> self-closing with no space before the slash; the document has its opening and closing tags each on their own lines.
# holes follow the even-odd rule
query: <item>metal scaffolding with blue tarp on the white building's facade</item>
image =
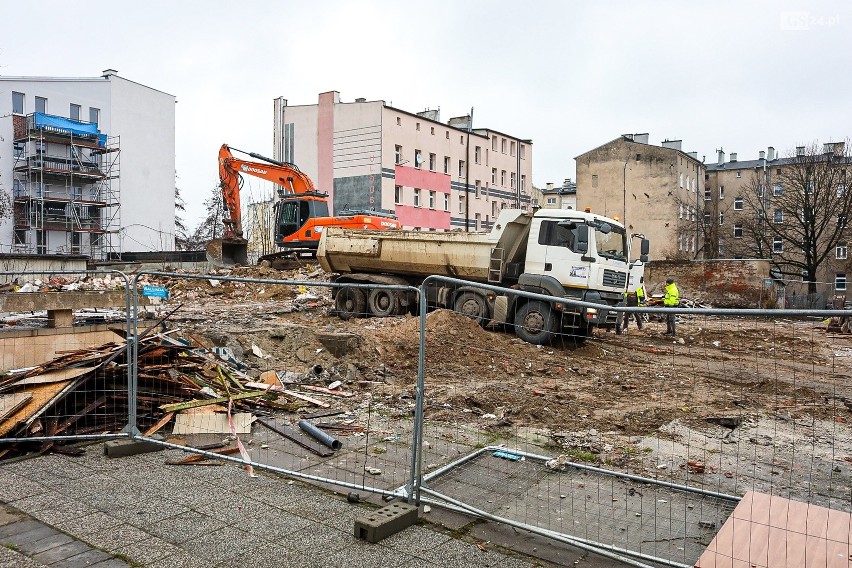
<svg viewBox="0 0 852 568">
<path fill-rule="evenodd" d="M 42 113 L 13 120 L 13 252 L 120 254 L 119 137 Z"/>
</svg>

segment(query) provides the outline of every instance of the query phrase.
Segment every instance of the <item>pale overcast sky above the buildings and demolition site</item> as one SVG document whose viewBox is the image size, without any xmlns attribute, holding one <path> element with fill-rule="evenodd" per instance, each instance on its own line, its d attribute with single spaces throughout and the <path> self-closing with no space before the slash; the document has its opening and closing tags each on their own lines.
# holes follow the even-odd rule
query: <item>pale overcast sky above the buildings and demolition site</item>
<svg viewBox="0 0 852 568">
<path fill-rule="evenodd" d="M 272 100 L 383 99 L 533 140 L 533 183 L 619 134 L 756 159 L 852 135 L 852 3 L 0 0 L 0 75 L 177 96 L 193 226 L 227 142 L 272 154 Z"/>
</svg>

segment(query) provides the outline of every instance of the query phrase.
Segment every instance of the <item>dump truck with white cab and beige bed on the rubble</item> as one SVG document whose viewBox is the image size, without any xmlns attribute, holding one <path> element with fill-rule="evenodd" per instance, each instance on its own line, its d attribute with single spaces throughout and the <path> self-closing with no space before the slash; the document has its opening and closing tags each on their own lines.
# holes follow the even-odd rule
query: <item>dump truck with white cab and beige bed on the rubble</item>
<svg viewBox="0 0 852 568">
<path fill-rule="evenodd" d="M 630 260 L 633 237 L 641 256 Z M 583 341 L 594 327 L 614 327 L 628 286 L 643 281 L 648 240 L 628 235 L 624 225 L 590 212 L 504 209 L 490 233 L 360 231 L 328 228 L 317 252 L 326 272 L 337 273 L 335 310 L 342 319 L 390 316 L 415 307 L 405 290 L 369 285 L 419 287 L 430 275 L 427 305 L 453 309 L 481 325 L 511 324 L 521 339 L 544 344 L 556 335 Z M 490 284 L 505 293 L 480 287 Z M 517 294 L 535 292 L 600 304 L 545 302 Z"/>
</svg>

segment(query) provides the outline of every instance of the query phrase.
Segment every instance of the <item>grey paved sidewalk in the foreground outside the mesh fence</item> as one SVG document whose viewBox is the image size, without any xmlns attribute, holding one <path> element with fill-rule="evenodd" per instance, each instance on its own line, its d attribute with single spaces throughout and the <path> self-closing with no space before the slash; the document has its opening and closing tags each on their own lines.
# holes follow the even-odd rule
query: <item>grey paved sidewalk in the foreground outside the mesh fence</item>
<svg viewBox="0 0 852 568">
<path fill-rule="evenodd" d="M 164 463 L 184 455 L 94 445 L 0 465 L 0 568 L 551 566 L 428 525 L 370 544 L 353 530 L 374 505 L 233 464 Z"/>
</svg>

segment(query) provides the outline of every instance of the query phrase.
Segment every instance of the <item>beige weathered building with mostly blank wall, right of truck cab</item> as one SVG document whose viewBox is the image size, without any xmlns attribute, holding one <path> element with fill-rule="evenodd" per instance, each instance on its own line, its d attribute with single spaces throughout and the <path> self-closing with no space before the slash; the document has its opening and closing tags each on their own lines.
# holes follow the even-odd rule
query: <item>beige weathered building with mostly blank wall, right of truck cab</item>
<svg viewBox="0 0 852 568">
<path fill-rule="evenodd" d="M 651 241 L 652 259 L 701 256 L 704 164 L 681 140 L 623 134 L 577 162 L 577 208 L 619 219 Z"/>
</svg>

